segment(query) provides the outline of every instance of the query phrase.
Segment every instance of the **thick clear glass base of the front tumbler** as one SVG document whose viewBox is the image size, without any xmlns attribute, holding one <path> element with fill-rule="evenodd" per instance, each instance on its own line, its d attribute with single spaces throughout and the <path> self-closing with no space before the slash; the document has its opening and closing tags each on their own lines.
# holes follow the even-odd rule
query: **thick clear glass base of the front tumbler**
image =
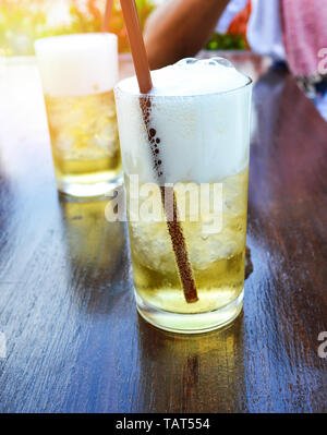
<svg viewBox="0 0 327 435">
<path fill-rule="evenodd" d="M 243 307 L 244 289 L 238 299 L 222 309 L 201 314 L 179 314 L 148 305 L 135 291 L 140 315 L 152 325 L 169 333 L 203 334 L 219 329 L 233 322 Z"/>
</svg>

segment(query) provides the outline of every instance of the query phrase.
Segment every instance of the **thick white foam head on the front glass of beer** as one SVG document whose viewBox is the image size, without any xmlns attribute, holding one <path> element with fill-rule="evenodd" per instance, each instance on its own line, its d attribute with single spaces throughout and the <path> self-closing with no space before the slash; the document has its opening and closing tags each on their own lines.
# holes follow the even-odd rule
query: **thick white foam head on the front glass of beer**
<svg viewBox="0 0 327 435">
<path fill-rule="evenodd" d="M 249 164 L 251 80 L 226 59 L 185 59 L 152 72 L 150 124 L 165 182 L 218 182 Z M 124 171 L 156 182 L 136 77 L 116 87 Z"/>
</svg>

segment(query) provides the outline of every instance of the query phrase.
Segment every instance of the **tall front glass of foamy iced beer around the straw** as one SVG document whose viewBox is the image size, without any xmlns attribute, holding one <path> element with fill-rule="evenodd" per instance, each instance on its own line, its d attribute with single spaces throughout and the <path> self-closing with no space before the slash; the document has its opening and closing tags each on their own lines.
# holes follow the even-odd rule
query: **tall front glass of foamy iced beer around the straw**
<svg viewBox="0 0 327 435">
<path fill-rule="evenodd" d="M 124 81 L 114 89 L 136 304 L 159 328 L 208 331 L 242 310 L 251 92 L 244 76 L 232 90 L 201 95 L 144 96 Z M 162 186 L 173 186 L 197 300 L 185 297 Z"/>
</svg>

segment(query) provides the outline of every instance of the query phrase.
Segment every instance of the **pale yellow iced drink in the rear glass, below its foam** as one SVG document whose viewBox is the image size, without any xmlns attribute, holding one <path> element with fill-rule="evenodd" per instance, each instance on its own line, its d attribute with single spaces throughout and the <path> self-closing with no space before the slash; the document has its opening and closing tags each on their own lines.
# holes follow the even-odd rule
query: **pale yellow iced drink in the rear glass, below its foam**
<svg viewBox="0 0 327 435">
<path fill-rule="evenodd" d="M 121 173 L 113 92 L 46 95 L 55 171 L 60 185 L 96 184 Z"/>
</svg>

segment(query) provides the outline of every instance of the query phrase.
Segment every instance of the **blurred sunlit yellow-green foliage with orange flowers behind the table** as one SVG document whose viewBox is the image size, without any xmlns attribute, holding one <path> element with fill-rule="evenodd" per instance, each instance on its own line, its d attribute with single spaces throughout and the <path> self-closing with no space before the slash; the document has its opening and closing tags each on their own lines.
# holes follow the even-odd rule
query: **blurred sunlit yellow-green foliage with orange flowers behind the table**
<svg viewBox="0 0 327 435">
<path fill-rule="evenodd" d="M 136 0 L 141 24 L 165 0 Z M 106 0 L 0 0 L 0 56 L 33 56 L 35 39 L 62 34 L 99 32 Z M 215 33 L 208 50 L 247 48 L 243 11 L 222 32 Z M 222 20 L 223 21 L 223 20 Z M 110 32 L 119 37 L 119 51 L 129 43 L 119 0 L 113 2 Z"/>
</svg>

